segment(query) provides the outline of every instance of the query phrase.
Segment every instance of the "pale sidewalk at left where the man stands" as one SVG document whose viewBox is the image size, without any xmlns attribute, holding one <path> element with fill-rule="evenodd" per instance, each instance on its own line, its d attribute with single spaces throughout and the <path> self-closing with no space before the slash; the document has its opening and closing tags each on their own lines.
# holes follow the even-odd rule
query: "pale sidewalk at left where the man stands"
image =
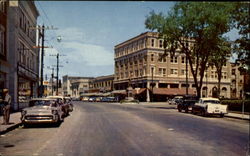
<svg viewBox="0 0 250 156">
<path fill-rule="evenodd" d="M 2 125 L 3 123 L 3 116 L 0 116 L 0 135 L 7 133 L 8 131 L 11 131 L 15 128 L 17 128 L 19 125 L 21 125 L 21 113 L 15 112 L 10 114 L 10 124 L 9 125 Z"/>
</svg>

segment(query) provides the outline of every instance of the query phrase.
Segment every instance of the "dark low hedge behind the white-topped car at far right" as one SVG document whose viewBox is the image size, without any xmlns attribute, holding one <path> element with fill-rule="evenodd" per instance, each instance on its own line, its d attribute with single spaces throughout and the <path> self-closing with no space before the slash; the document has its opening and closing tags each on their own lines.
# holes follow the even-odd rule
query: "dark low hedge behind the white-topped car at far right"
<svg viewBox="0 0 250 156">
<path fill-rule="evenodd" d="M 221 103 L 228 105 L 229 111 L 242 111 L 243 100 L 221 100 Z M 244 101 L 244 110 L 250 112 L 250 100 Z"/>
</svg>

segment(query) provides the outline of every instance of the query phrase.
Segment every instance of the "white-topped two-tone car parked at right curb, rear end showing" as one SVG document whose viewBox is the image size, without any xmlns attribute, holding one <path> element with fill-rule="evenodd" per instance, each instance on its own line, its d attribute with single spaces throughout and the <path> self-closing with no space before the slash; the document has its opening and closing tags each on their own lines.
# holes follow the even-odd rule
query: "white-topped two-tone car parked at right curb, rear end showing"
<svg viewBox="0 0 250 156">
<path fill-rule="evenodd" d="M 222 105 L 218 98 L 200 98 L 192 107 L 192 113 L 198 113 L 202 116 L 220 115 L 220 117 L 224 117 L 224 114 L 228 113 L 228 106 Z"/>
</svg>

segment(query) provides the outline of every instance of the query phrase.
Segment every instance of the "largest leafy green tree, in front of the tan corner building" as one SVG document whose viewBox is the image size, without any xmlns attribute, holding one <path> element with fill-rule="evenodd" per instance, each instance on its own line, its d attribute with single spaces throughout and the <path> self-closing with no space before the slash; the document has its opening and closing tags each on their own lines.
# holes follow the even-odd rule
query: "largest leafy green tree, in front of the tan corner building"
<svg viewBox="0 0 250 156">
<path fill-rule="evenodd" d="M 152 11 L 146 18 L 146 28 L 169 44 L 167 52 L 174 54 L 178 45 L 186 54 L 198 97 L 209 57 L 219 52 L 220 37 L 231 28 L 231 10 L 231 3 L 178 2 L 167 16 Z"/>
</svg>

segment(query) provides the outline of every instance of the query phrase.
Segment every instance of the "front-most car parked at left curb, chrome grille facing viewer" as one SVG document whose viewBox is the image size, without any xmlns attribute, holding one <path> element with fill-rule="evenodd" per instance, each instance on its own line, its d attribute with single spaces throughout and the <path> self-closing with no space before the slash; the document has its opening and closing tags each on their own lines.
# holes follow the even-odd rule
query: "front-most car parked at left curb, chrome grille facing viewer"
<svg viewBox="0 0 250 156">
<path fill-rule="evenodd" d="M 60 123 L 63 121 L 62 107 L 56 100 L 35 98 L 28 108 L 21 111 L 21 121 L 26 126 L 32 123 Z"/>
</svg>

